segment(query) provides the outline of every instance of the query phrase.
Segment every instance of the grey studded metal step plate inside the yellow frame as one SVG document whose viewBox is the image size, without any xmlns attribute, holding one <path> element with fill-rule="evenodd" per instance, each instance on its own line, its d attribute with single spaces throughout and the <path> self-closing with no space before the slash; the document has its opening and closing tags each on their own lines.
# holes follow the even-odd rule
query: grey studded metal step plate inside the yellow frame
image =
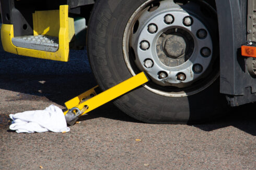
<svg viewBox="0 0 256 170">
<path fill-rule="evenodd" d="M 46 35 L 29 35 L 14 37 L 11 42 L 16 47 L 35 49 L 41 51 L 56 52 L 59 49 L 59 37 L 46 36 Z"/>
</svg>

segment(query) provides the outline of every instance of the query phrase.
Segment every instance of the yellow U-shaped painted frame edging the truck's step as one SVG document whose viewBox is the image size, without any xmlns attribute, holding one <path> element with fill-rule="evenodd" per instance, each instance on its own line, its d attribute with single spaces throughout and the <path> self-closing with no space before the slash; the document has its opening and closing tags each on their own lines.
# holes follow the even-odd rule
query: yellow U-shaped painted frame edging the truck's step
<svg viewBox="0 0 256 170">
<path fill-rule="evenodd" d="M 3 48 L 9 53 L 14 53 L 22 56 L 43 58 L 56 61 L 68 61 L 69 54 L 69 35 L 68 35 L 68 5 L 61 5 L 60 11 L 60 30 L 59 30 L 59 49 L 55 52 L 40 51 L 16 47 L 11 42 L 14 37 L 13 25 L 3 24 L 1 27 L 1 40 Z M 43 21 L 42 21 L 43 22 Z"/>
</svg>

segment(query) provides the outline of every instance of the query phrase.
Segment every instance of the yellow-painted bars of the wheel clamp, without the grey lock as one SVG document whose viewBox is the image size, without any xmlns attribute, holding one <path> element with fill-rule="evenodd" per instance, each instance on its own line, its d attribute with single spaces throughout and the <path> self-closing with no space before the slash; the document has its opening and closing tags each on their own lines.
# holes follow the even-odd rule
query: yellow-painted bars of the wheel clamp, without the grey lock
<svg viewBox="0 0 256 170">
<path fill-rule="evenodd" d="M 74 107 L 77 107 L 80 110 L 85 110 L 81 115 L 84 115 L 88 113 L 91 110 L 94 110 L 98 107 L 100 107 L 102 104 L 105 104 L 125 93 L 128 91 L 148 82 L 147 76 L 144 72 L 141 72 L 130 79 L 115 85 L 114 87 L 103 91 L 102 93 L 96 95 L 95 97 L 92 97 L 86 101 L 83 102 L 83 98 L 88 96 L 91 92 L 95 92 L 95 87 L 86 91 L 82 95 L 79 95 L 65 103 L 67 109 L 72 109 Z M 87 109 L 86 109 L 87 108 Z M 64 114 L 66 114 L 64 112 Z"/>
</svg>

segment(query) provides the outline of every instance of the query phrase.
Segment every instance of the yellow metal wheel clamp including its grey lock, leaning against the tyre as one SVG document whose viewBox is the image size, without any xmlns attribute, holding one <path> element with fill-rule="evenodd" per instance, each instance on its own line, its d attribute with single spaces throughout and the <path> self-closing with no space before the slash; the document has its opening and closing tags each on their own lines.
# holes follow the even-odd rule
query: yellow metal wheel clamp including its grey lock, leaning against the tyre
<svg viewBox="0 0 256 170">
<path fill-rule="evenodd" d="M 82 116 L 89 111 L 92 111 L 101 105 L 127 93 L 128 91 L 148 82 L 148 78 L 144 72 L 141 72 L 130 79 L 115 85 L 114 87 L 103 91 L 102 93 L 96 93 L 94 87 L 85 93 L 65 102 L 67 111 L 64 112 L 67 124 L 74 125 L 79 116 Z"/>
</svg>

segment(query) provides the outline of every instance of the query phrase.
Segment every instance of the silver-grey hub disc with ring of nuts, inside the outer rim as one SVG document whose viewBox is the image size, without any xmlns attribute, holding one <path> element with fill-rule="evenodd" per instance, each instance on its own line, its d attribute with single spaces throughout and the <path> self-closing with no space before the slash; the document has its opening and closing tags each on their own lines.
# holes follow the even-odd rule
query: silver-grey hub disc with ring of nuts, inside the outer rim
<svg viewBox="0 0 256 170">
<path fill-rule="evenodd" d="M 167 0 L 160 1 L 159 8 L 152 12 L 143 12 L 138 20 L 138 29 L 131 37 L 135 63 L 155 83 L 186 87 L 206 71 L 212 59 L 213 45 L 210 34 L 199 19 L 172 0 Z M 153 30 L 153 26 L 156 29 Z M 202 34 L 202 30 L 207 34 L 203 38 L 197 36 Z M 207 57 L 201 54 L 204 49 L 209 51 Z M 153 61 L 153 67 L 145 68 L 147 59 Z M 202 67 L 201 72 L 193 70 L 195 64 Z M 164 79 L 159 76 L 162 72 L 167 75 Z M 180 73 L 187 78 L 179 79 L 177 75 Z"/>
</svg>

